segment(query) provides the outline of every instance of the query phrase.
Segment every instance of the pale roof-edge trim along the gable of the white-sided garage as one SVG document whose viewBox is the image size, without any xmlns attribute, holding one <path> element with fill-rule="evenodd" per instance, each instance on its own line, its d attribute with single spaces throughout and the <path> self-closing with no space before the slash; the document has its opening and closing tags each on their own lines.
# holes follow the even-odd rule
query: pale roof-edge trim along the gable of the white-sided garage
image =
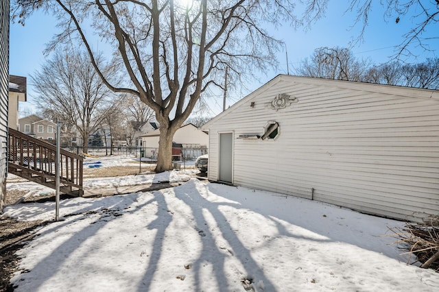
<svg viewBox="0 0 439 292">
<path fill-rule="evenodd" d="M 242 104 L 245 104 L 248 100 L 251 100 L 253 97 L 257 97 L 261 95 L 268 88 L 272 88 L 278 84 L 278 82 L 286 81 L 286 82 L 297 82 L 300 84 L 307 84 L 309 86 L 312 85 L 320 85 L 320 86 L 334 86 L 337 88 L 344 89 L 352 89 L 352 90 L 363 90 L 373 93 L 382 93 L 388 95 L 400 95 L 403 97 L 413 97 L 413 98 L 423 98 L 423 99 L 436 99 L 439 101 L 439 90 L 434 89 L 424 89 L 424 88 L 412 88 L 405 86 L 394 86 L 394 85 L 386 85 L 386 84 L 375 84 L 375 83 L 366 83 L 366 82 L 354 82 L 354 81 L 345 81 L 345 80 L 333 80 L 326 78 L 317 78 L 317 77 L 303 77 L 303 76 L 295 76 L 295 75 L 277 75 L 269 82 L 263 84 L 263 86 L 257 88 L 252 93 L 239 100 L 233 106 L 230 106 L 224 112 L 221 112 L 216 117 L 208 121 L 202 126 L 202 129 L 209 129 L 209 125 L 215 123 L 218 119 L 226 116 L 230 112 L 237 110 Z"/>
</svg>

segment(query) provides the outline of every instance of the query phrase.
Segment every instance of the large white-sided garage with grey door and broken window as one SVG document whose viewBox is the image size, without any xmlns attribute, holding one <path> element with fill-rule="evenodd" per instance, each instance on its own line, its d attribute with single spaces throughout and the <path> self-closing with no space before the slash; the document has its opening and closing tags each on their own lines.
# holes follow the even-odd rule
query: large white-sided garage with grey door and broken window
<svg viewBox="0 0 439 292">
<path fill-rule="evenodd" d="M 278 75 L 206 123 L 209 180 L 439 215 L 439 91 Z"/>
</svg>

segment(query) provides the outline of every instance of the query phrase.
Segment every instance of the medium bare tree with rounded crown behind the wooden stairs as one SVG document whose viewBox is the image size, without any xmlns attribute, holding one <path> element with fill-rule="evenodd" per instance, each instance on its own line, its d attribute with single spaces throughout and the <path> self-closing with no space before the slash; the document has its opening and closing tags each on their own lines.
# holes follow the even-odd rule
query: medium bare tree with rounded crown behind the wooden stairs
<svg viewBox="0 0 439 292">
<path fill-rule="evenodd" d="M 102 64 L 101 58 L 95 60 Z M 107 74 L 108 67 L 103 67 Z M 80 133 L 83 151 L 88 151 L 88 136 L 95 132 L 105 115 L 99 109 L 112 93 L 102 83 L 88 59 L 88 54 L 69 50 L 56 51 L 41 71 L 31 76 L 38 93 L 38 109 L 54 120 L 64 121 L 66 128 Z"/>
</svg>

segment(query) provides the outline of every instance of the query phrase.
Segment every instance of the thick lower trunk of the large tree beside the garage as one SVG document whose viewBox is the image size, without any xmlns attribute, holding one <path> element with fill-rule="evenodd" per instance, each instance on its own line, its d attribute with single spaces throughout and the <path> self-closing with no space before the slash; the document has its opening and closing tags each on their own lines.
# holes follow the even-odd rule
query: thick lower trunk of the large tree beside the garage
<svg viewBox="0 0 439 292">
<path fill-rule="evenodd" d="M 175 125 L 160 126 L 160 141 L 158 141 L 158 155 L 156 173 L 173 169 L 172 167 L 172 138 L 178 127 Z"/>
</svg>

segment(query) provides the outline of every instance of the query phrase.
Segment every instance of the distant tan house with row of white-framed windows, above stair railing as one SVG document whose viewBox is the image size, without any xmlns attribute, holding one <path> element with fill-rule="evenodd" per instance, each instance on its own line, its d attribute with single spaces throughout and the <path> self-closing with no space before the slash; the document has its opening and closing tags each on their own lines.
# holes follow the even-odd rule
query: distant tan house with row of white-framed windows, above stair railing
<svg viewBox="0 0 439 292">
<path fill-rule="evenodd" d="M 19 119 L 19 131 L 41 140 L 55 140 L 56 123 L 35 114 Z"/>
</svg>

